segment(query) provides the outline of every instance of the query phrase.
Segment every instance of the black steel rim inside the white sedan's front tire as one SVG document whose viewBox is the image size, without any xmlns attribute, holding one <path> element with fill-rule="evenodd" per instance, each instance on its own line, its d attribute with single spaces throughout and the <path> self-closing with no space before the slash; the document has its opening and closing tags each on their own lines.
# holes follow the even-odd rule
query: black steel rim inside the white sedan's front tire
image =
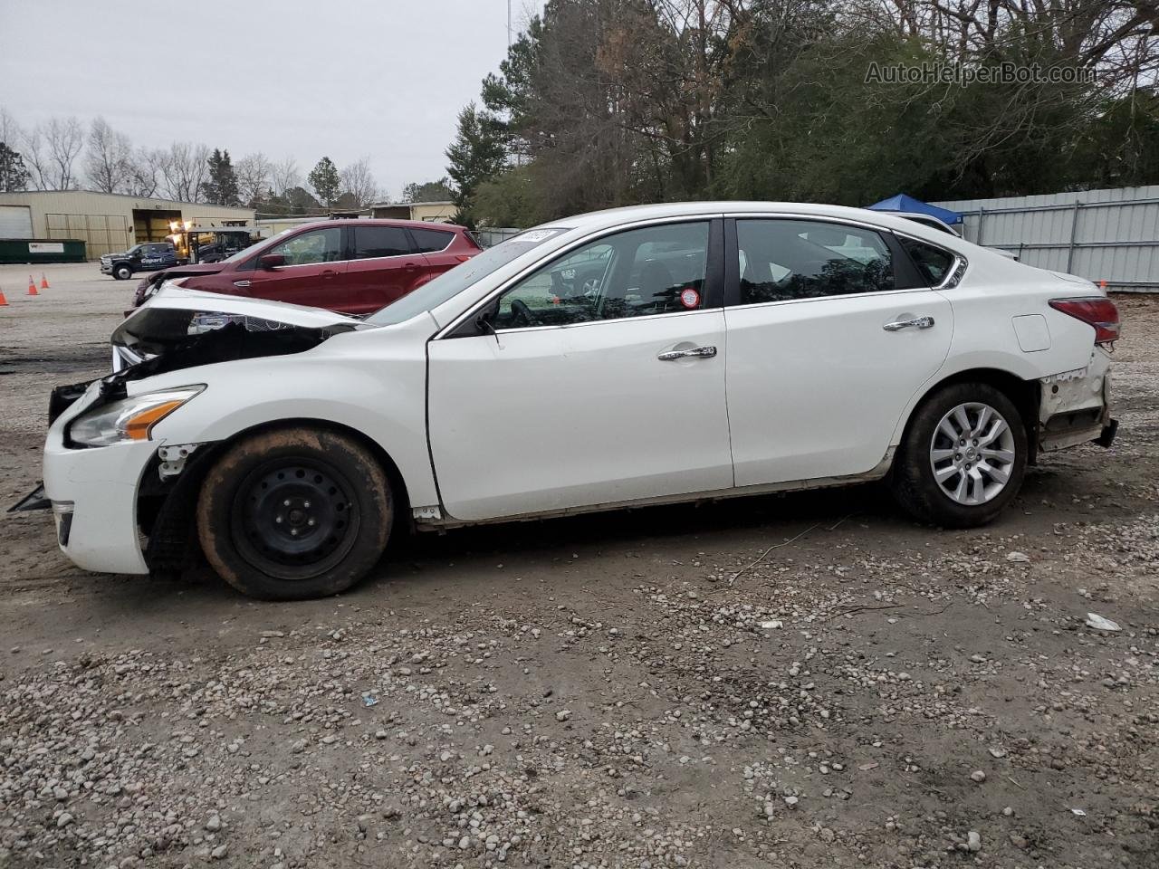
<svg viewBox="0 0 1159 869">
<path fill-rule="evenodd" d="M 311 579 L 340 564 L 358 538 L 358 502 L 327 461 L 289 457 L 246 475 L 233 501 L 233 539 L 253 568 Z"/>
</svg>

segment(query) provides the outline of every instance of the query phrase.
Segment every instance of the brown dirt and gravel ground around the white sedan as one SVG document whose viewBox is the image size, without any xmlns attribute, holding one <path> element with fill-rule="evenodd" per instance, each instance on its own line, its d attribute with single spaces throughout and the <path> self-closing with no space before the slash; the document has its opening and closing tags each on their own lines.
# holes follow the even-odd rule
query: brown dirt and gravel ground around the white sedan
<svg viewBox="0 0 1159 869">
<path fill-rule="evenodd" d="M 0 266 L 5 505 L 132 290 L 46 272 Z M 1116 301 L 1114 448 L 979 531 L 865 487 L 421 536 L 260 604 L 3 516 L 0 866 L 1159 866 L 1159 300 Z"/>
</svg>

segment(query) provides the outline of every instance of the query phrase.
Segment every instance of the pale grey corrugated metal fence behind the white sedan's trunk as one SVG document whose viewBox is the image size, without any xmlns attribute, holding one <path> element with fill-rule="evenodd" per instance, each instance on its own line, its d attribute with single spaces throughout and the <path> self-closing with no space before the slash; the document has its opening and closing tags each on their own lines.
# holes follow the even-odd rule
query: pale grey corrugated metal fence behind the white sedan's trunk
<svg viewBox="0 0 1159 869">
<path fill-rule="evenodd" d="M 1159 292 L 1159 185 L 935 203 L 963 235 L 1120 292 Z"/>
</svg>

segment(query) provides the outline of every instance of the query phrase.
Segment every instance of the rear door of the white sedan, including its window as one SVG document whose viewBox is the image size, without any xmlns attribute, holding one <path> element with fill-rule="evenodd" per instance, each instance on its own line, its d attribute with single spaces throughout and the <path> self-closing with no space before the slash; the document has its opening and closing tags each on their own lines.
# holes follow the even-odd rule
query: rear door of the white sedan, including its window
<svg viewBox="0 0 1159 869">
<path fill-rule="evenodd" d="M 736 484 L 873 470 L 949 352 L 949 302 L 873 227 L 738 218 L 727 238 Z"/>
</svg>

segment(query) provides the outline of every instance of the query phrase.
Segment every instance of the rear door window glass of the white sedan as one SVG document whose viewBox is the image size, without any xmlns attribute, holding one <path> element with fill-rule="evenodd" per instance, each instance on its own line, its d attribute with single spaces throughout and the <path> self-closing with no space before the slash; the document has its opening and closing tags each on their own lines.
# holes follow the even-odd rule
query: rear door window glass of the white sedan
<svg viewBox="0 0 1159 869">
<path fill-rule="evenodd" d="M 873 229 L 819 220 L 737 220 L 741 305 L 892 290 L 894 261 Z"/>
</svg>

